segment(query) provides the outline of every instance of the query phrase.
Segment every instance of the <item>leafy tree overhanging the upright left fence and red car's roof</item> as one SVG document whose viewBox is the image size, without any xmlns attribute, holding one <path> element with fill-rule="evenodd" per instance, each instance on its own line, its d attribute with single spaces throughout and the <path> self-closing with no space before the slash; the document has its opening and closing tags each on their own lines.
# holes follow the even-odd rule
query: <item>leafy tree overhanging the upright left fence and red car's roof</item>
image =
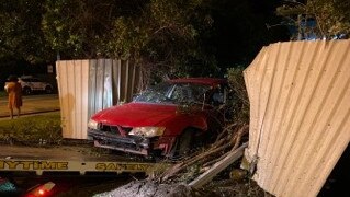
<svg viewBox="0 0 350 197">
<path fill-rule="evenodd" d="M 121 58 L 148 76 L 204 76 L 216 69 L 200 40 L 213 22 L 205 5 L 202 0 L 46 0 L 42 24 L 63 58 Z"/>
</svg>

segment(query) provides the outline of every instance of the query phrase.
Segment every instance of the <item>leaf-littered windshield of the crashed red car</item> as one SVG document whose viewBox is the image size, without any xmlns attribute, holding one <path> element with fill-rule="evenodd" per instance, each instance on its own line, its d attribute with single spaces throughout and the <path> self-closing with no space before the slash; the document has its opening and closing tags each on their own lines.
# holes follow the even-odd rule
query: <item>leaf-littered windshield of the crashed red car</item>
<svg viewBox="0 0 350 197">
<path fill-rule="evenodd" d="M 135 97 L 134 102 L 146 103 L 202 103 L 204 94 L 211 89 L 208 85 L 195 83 L 162 82 L 147 89 Z"/>
</svg>

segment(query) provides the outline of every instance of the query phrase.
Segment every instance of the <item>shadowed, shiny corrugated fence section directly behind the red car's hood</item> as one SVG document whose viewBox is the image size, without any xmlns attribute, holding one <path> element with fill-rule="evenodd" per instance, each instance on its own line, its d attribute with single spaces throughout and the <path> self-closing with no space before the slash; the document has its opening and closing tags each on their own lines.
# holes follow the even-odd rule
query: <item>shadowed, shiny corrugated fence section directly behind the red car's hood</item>
<svg viewBox="0 0 350 197">
<path fill-rule="evenodd" d="M 128 61 L 90 60 L 89 117 L 121 102 L 129 102 L 137 91 L 139 69 Z"/>
</svg>

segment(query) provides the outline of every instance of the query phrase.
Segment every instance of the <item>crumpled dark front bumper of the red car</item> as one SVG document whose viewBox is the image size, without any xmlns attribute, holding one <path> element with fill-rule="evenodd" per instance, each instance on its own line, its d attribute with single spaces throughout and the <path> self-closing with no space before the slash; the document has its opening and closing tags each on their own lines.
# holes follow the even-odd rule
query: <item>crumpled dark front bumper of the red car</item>
<svg viewBox="0 0 350 197">
<path fill-rule="evenodd" d="M 123 152 L 148 155 L 153 149 L 151 139 L 138 136 L 124 137 L 117 134 L 88 128 L 88 137 L 93 139 L 95 147 Z"/>
</svg>

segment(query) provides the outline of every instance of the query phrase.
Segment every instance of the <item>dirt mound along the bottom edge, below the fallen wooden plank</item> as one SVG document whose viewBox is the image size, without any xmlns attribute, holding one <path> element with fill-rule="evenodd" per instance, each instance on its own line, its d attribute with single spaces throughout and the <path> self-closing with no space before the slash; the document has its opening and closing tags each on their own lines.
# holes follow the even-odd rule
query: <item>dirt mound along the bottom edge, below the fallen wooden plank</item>
<svg viewBox="0 0 350 197">
<path fill-rule="evenodd" d="M 156 184 L 147 181 L 135 181 L 114 190 L 98 194 L 94 197 L 232 197 L 232 196 L 271 196 L 263 192 L 253 181 L 212 182 L 201 189 L 187 184 Z"/>
</svg>

